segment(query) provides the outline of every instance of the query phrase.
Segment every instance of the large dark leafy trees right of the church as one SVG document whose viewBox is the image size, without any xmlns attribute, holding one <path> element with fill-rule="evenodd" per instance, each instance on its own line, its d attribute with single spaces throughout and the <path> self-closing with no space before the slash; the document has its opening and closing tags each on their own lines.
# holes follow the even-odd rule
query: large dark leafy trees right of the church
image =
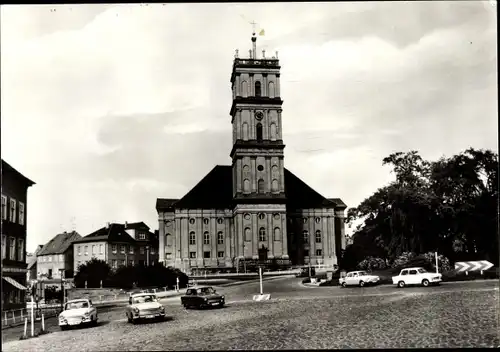
<svg viewBox="0 0 500 352">
<path fill-rule="evenodd" d="M 363 224 L 344 262 L 437 250 L 452 260 L 498 264 L 497 154 L 470 148 L 429 162 L 416 151 L 398 152 L 383 165 L 396 179 L 349 209 L 347 222 Z"/>
</svg>

